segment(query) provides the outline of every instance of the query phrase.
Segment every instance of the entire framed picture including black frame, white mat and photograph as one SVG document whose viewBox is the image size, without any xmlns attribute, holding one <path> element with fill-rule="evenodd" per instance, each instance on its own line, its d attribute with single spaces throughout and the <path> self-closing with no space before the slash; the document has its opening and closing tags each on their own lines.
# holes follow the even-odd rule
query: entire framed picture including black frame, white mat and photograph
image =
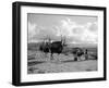
<svg viewBox="0 0 109 88">
<path fill-rule="evenodd" d="M 13 85 L 106 80 L 106 8 L 13 3 Z"/>
</svg>

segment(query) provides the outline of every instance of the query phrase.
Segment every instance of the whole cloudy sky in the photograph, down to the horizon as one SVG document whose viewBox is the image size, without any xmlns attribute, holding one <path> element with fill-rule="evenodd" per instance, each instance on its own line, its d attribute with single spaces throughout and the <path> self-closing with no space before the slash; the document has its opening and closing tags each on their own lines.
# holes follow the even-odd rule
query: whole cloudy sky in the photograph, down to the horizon
<svg viewBox="0 0 109 88">
<path fill-rule="evenodd" d="M 97 43 L 97 22 L 96 16 L 28 13 L 28 42 L 37 42 L 48 36 L 60 40 L 62 35 L 70 43 Z"/>
</svg>

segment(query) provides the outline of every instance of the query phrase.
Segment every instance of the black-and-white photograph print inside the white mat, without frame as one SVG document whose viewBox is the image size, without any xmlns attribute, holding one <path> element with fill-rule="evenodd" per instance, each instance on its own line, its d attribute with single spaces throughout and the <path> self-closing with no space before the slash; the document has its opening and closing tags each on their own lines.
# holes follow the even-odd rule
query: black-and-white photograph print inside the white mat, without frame
<svg viewBox="0 0 109 88">
<path fill-rule="evenodd" d="M 98 70 L 98 17 L 27 13 L 27 74 Z"/>
</svg>

